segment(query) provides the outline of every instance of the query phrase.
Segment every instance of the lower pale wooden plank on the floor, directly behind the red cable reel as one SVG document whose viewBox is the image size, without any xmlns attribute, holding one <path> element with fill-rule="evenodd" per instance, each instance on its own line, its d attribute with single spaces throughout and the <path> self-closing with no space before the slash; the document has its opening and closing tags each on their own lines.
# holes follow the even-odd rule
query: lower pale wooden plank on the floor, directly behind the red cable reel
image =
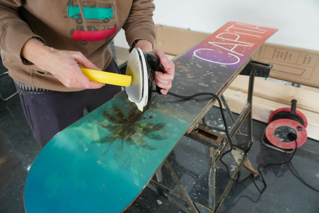
<svg viewBox="0 0 319 213">
<path fill-rule="evenodd" d="M 224 96 L 230 109 L 234 113 L 240 113 L 246 105 L 247 93 L 228 88 L 224 92 Z M 218 103 L 215 103 L 215 106 L 218 107 Z M 271 101 L 254 95 L 252 108 L 253 119 L 268 123 L 268 118 L 271 112 L 283 107 L 290 107 L 290 105 L 278 103 L 276 101 Z M 308 120 L 308 126 L 306 128 L 308 137 L 319 140 L 319 114 L 303 109 L 298 110 L 300 110 Z"/>
</svg>

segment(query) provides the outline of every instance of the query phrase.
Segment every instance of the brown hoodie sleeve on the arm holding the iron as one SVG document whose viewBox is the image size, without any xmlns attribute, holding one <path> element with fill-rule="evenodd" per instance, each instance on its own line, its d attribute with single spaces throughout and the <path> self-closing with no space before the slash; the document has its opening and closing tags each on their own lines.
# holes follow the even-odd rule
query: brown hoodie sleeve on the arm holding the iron
<svg viewBox="0 0 319 213">
<path fill-rule="evenodd" d="M 155 41 L 155 26 L 152 19 L 155 5 L 153 0 L 133 0 L 130 14 L 123 26 L 130 46 L 137 39 Z"/>
</svg>

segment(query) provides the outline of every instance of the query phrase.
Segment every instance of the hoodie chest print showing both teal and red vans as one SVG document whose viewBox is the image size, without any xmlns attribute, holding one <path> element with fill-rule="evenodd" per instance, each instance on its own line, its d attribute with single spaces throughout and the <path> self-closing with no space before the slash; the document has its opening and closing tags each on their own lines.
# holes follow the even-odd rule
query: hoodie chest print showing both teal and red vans
<svg viewBox="0 0 319 213">
<path fill-rule="evenodd" d="M 85 45 L 87 42 L 107 41 L 116 33 L 113 0 L 70 0 L 64 8 L 64 18 L 74 19 L 77 27 L 70 30 L 72 40 Z M 88 23 L 88 24 L 86 24 Z"/>
</svg>

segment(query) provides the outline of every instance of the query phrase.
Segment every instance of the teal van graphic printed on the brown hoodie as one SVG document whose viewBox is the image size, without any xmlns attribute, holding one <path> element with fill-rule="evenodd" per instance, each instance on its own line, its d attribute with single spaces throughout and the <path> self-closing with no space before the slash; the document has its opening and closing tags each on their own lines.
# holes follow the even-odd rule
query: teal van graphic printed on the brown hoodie
<svg viewBox="0 0 319 213">
<path fill-rule="evenodd" d="M 84 1 L 83 4 L 83 15 L 85 20 L 95 19 L 102 20 L 107 23 L 110 19 L 113 18 L 114 5 L 113 1 L 111 3 L 103 2 L 87 2 Z M 82 15 L 78 2 L 76 0 L 70 0 L 64 8 L 64 17 L 75 19 L 78 24 L 82 24 Z M 88 21 L 89 22 L 89 21 Z"/>
</svg>

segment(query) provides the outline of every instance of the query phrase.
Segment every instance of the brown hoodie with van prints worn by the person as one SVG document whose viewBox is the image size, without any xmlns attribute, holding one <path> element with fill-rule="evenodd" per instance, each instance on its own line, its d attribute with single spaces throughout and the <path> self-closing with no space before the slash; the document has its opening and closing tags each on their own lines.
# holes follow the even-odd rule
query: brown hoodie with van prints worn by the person
<svg viewBox="0 0 319 213">
<path fill-rule="evenodd" d="M 112 59 L 108 46 L 121 28 L 131 46 L 137 39 L 154 45 L 153 0 L 0 0 L 0 49 L 9 75 L 33 87 L 67 88 L 52 74 L 24 63 L 20 53 L 31 37 L 55 49 L 80 51 L 104 70 Z M 84 17 L 84 18 L 83 18 Z"/>
</svg>

